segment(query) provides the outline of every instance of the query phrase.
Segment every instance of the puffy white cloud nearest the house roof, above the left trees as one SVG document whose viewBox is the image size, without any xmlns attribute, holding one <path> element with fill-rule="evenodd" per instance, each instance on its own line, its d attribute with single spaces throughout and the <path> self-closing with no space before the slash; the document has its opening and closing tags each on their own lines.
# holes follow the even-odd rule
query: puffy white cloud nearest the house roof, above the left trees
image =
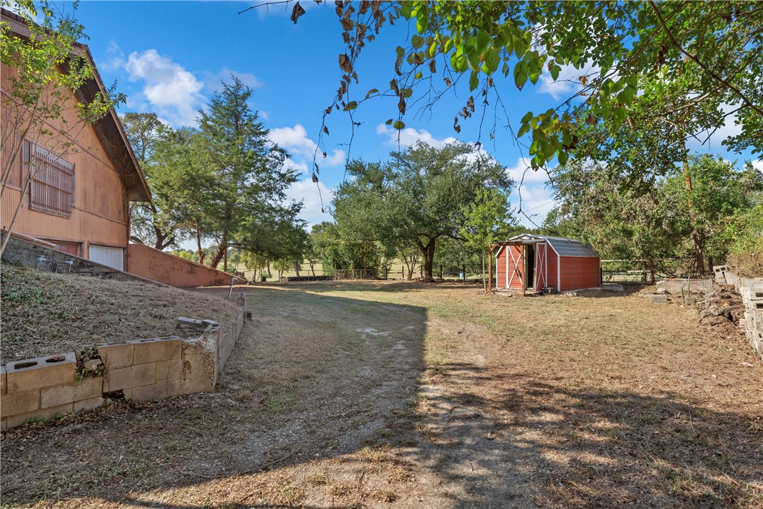
<svg viewBox="0 0 763 509">
<path fill-rule="evenodd" d="M 157 114 L 174 125 L 195 124 L 198 108 L 204 103 L 204 83 L 179 63 L 156 50 L 134 51 L 124 68 L 130 81 L 143 80 L 143 95 Z"/>
</svg>

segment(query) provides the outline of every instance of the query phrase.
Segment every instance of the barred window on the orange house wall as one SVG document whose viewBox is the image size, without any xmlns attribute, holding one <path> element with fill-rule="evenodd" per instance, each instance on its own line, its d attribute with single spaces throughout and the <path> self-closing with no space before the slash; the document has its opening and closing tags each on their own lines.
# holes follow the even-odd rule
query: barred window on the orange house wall
<svg viewBox="0 0 763 509">
<path fill-rule="evenodd" d="M 74 165 L 42 147 L 26 143 L 24 159 L 32 165 L 29 208 L 62 217 L 72 217 Z"/>
</svg>

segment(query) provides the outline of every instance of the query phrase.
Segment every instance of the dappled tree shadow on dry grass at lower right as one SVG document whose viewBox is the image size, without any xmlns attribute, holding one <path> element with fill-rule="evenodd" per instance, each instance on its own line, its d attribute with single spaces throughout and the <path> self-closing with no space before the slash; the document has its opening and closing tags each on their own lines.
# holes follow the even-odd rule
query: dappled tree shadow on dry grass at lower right
<svg viewBox="0 0 763 509">
<path fill-rule="evenodd" d="M 427 394 L 430 446 L 412 456 L 464 487 L 456 507 L 763 504 L 759 418 L 670 392 L 571 388 L 527 373 L 444 367 L 453 383 L 443 379 L 444 391 Z M 459 462 L 472 468 L 455 470 Z"/>
</svg>

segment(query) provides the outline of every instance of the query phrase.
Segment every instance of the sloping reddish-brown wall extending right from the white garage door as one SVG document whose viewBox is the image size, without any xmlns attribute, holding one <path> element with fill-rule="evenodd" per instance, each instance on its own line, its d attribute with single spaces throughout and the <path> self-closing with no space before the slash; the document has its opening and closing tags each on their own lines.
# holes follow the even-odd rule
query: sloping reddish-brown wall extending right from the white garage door
<svg viewBox="0 0 763 509">
<path fill-rule="evenodd" d="M 170 286 L 230 285 L 233 278 L 227 272 L 138 243 L 127 246 L 127 263 L 133 274 Z"/>
</svg>

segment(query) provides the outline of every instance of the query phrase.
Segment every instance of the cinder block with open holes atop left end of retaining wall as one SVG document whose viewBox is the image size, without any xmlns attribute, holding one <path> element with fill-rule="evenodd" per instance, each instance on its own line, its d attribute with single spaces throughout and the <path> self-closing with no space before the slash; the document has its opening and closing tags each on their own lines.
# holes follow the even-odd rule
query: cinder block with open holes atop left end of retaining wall
<svg viewBox="0 0 763 509">
<path fill-rule="evenodd" d="M 76 369 L 74 352 L 8 362 L 5 365 L 6 390 L 10 394 L 68 384 L 74 382 Z"/>
</svg>

